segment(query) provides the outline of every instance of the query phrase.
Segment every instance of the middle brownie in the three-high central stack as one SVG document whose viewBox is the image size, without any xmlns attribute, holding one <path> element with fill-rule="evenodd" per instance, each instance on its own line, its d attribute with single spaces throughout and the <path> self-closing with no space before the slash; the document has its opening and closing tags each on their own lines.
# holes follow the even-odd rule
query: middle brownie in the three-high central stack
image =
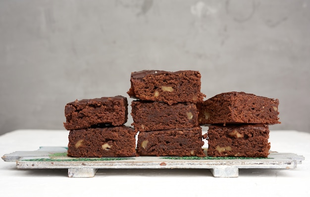
<svg viewBox="0 0 310 197">
<path fill-rule="evenodd" d="M 199 127 L 195 103 L 176 103 L 134 100 L 131 115 L 136 131 L 155 131 Z"/>
</svg>

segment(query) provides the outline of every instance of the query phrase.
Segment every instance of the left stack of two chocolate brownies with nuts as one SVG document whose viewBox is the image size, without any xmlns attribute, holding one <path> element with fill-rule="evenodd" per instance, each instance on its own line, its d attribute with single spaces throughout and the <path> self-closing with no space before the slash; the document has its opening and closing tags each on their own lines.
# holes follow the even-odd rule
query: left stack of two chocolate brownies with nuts
<svg viewBox="0 0 310 197">
<path fill-rule="evenodd" d="M 70 131 L 68 156 L 135 156 L 137 132 L 124 125 L 127 116 L 128 101 L 122 96 L 67 103 L 64 127 Z"/>
</svg>

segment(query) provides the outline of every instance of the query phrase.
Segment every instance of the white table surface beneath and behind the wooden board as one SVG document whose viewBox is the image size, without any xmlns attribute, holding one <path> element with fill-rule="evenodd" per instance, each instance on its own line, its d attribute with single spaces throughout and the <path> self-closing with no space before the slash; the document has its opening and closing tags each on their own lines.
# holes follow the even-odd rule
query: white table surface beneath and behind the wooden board
<svg viewBox="0 0 310 197">
<path fill-rule="evenodd" d="M 271 150 L 305 156 L 295 169 L 239 169 L 215 178 L 207 169 L 99 169 L 93 178 L 68 178 L 67 169 L 17 169 L 0 160 L 0 196 L 74 197 L 310 197 L 310 134 L 270 131 Z M 0 156 L 42 146 L 67 146 L 65 130 L 16 130 L 0 136 Z"/>
</svg>

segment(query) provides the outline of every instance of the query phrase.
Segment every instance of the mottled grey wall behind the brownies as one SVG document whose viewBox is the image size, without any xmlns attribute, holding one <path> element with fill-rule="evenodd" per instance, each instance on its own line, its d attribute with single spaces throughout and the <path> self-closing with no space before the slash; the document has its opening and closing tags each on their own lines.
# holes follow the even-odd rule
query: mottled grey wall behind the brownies
<svg viewBox="0 0 310 197">
<path fill-rule="evenodd" d="M 64 129 L 67 102 L 128 97 L 143 69 L 277 98 L 270 129 L 310 132 L 309 35 L 309 0 L 0 0 L 0 134 Z"/>
</svg>

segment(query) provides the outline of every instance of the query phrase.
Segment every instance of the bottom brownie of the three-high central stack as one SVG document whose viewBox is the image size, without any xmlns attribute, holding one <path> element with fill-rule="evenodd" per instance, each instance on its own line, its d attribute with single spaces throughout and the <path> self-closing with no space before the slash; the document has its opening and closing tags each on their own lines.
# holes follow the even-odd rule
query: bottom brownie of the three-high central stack
<svg viewBox="0 0 310 197">
<path fill-rule="evenodd" d="M 141 156 L 206 156 L 201 127 L 140 132 L 137 153 Z"/>
</svg>

